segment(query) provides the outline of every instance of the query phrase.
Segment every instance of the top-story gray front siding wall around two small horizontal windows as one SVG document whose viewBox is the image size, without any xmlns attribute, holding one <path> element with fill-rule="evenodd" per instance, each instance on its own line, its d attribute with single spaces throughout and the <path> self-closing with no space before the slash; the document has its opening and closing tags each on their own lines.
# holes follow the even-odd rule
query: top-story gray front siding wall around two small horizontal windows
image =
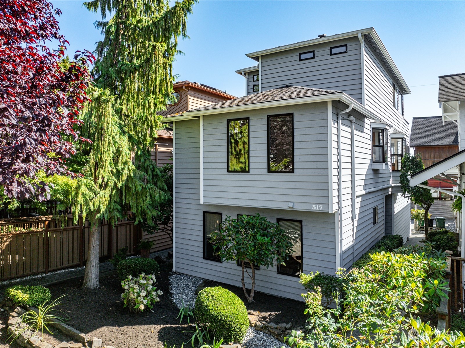
<svg viewBox="0 0 465 348">
<path fill-rule="evenodd" d="M 329 54 L 330 47 L 343 44 L 347 44 L 347 53 Z M 315 51 L 315 58 L 299 61 L 299 53 L 309 50 Z M 262 56 L 262 91 L 285 85 L 338 90 L 361 102 L 359 39 L 352 37 Z"/>
</svg>

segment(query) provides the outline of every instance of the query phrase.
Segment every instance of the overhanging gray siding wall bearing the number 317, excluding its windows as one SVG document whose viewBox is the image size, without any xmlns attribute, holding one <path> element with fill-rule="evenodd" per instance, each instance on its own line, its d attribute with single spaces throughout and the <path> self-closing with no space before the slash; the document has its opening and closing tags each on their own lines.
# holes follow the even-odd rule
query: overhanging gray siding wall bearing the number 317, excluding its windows
<svg viewBox="0 0 465 348">
<path fill-rule="evenodd" d="M 204 117 L 204 203 L 328 212 L 327 103 Z M 294 173 L 268 173 L 267 115 L 294 114 Z M 227 173 L 226 120 L 250 117 L 250 173 Z M 332 210 L 331 210 L 332 213 Z"/>
</svg>

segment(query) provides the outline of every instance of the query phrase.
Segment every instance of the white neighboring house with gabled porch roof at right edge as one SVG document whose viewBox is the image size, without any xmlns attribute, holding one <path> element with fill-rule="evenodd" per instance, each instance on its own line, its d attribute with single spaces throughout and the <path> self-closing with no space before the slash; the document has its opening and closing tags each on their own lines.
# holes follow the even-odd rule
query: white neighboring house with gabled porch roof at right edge
<svg viewBox="0 0 465 348">
<path fill-rule="evenodd" d="M 439 76 L 438 101 L 444 122 L 450 120 L 458 129 L 458 153 L 413 174 L 410 185 L 422 186 L 425 181 L 438 180 L 450 184 L 453 189 L 426 187 L 440 190 L 445 194 L 457 195 L 465 190 L 465 74 Z M 464 214 L 465 209 L 462 209 L 456 220 L 462 258 L 465 257 Z"/>
</svg>

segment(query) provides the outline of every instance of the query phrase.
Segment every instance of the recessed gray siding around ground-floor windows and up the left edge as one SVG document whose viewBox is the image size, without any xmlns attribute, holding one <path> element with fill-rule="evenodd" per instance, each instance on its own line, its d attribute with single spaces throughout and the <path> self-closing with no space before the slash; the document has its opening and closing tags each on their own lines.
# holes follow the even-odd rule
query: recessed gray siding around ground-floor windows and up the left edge
<svg viewBox="0 0 465 348">
<path fill-rule="evenodd" d="M 259 213 L 271 221 L 302 220 L 304 272 L 319 270 L 334 274 L 334 214 L 200 204 L 199 127 L 199 120 L 176 122 L 176 271 L 240 286 L 240 268 L 235 263 L 203 259 L 203 211 L 213 211 L 221 212 L 223 218 Z M 226 131 L 226 122 L 221 128 Z M 302 301 L 299 278 L 277 274 L 275 268 L 260 269 L 256 278 L 257 291 Z"/>
</svg>

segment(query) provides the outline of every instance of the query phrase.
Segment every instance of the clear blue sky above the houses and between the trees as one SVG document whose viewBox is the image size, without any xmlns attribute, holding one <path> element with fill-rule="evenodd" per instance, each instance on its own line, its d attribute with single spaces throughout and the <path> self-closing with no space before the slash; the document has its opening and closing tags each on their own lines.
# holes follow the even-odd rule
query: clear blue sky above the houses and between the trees
<svg viewBox="0 0 465 348">
<path fill-rule="evenodd" d="M 96 14 L 81 1 L 52 1 L 62 10 L 68 54 L 93 50 L 100 40 Z M 174 73 L 243 96 L 234 70 L 255 65 L 246 53 L 292 42 L 374 27 L 412 94 L 405 116 L 440 114 L 438 75 L 465 72 L 465 1 L 211 1 L 189 16 L 190 40 L 180 40 Z M 425 86 L 426 85 L 426 86 Z"/>
</svg>

